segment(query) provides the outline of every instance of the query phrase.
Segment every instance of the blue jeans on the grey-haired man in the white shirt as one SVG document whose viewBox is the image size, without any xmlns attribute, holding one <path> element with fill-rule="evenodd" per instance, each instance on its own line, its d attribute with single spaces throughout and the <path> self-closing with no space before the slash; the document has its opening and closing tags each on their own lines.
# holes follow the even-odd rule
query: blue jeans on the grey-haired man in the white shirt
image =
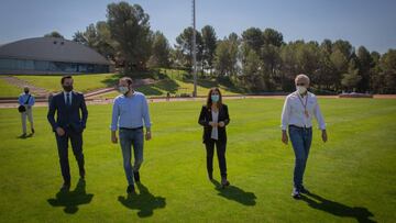
<svg viewBox="0 0 396 223">
<path fill-rule="evenodd" d="M 312 142 L 312 129 L 289 126 L 289 136 L 295 153 L 294 187 L 302 188 L 302 178 L 307 165 L 309 148 Z"/>
</svg>

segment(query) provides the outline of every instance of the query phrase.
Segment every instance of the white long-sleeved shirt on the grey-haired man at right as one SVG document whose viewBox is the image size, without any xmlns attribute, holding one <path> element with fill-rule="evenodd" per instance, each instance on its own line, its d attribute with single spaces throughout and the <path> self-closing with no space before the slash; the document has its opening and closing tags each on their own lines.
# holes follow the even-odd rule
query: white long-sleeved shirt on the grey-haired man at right
<svg viewBox="0 0 396 223">
<path fill-rule="evenodd" d="M 286 130 L 288 125 L 311 127 L 314 115 L 318 122 L 319 129 L 326 130 L 326 123 L 320 112 L 317 97 L 311 92 L 307 92 L 304 97 L 297 91 L 293 92 L 286 97 L 282 111 L 280 127 L 282 130 Z"/>
</svg>

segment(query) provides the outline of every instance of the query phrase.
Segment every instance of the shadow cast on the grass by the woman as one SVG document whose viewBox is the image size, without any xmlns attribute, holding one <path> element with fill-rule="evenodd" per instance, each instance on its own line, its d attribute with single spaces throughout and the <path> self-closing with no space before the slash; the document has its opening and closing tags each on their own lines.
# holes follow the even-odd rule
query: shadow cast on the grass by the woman
<svg viewBox="0 0 396 223">
<path fill-rule="evenodd" d="M 211 180 L 211 182 L 215 185 L 216 190 L 219 191 L 219 196 L 228 199 L 237 201 L 243 205 L 255 205 L 255 194 L 253 192 L 246 192 L 242 190 L 241 188 L 237 186 L 228 186 L 226 188 L 222 188 L 220 182 L 217 180 Z"/>
</svg>

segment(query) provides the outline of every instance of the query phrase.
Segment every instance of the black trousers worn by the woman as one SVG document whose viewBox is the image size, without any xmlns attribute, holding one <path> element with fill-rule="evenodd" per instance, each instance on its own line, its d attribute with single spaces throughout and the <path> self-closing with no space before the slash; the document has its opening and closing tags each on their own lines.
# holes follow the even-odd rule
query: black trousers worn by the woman
<svg viewBox="0 0 396 223">
<path fill-rule="evenodd" d="M 227 177 L 227 164 L 226 164 L 226 142 L 220 142 L 216 140 L 208 140 L 205 142 L 205 146 L 207 149 L 207 170 L 208 174 L 212 174 L 213 171 L 213 154 L 215 154 L 215 145 L 217 149 L 217 156 L 219 159 L 220 175 L 221 177 Z"/>
</svg>

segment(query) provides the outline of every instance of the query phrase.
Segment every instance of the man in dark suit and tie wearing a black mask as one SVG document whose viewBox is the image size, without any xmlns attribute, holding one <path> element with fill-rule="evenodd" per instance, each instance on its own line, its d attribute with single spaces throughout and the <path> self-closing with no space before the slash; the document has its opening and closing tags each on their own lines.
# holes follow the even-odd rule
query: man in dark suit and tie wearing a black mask
<svg viewBox="0 0 396 223">
<path fill-rule="evenodd" d="M 55 94 L 51 100 L 47 119 L 55 132 L 58 148 L 61 170 L 64 178 L 64 185 L 61 189 L 68 190 L 70 188 L 69 140 L 78 164 L 80 178 L 85 179 L 82 131 L 86 127 L 88 111 L 84 96 L 73 91 L 72 76 L 64 76 L 61 82 L 64 91 Z"/>
</svg>

